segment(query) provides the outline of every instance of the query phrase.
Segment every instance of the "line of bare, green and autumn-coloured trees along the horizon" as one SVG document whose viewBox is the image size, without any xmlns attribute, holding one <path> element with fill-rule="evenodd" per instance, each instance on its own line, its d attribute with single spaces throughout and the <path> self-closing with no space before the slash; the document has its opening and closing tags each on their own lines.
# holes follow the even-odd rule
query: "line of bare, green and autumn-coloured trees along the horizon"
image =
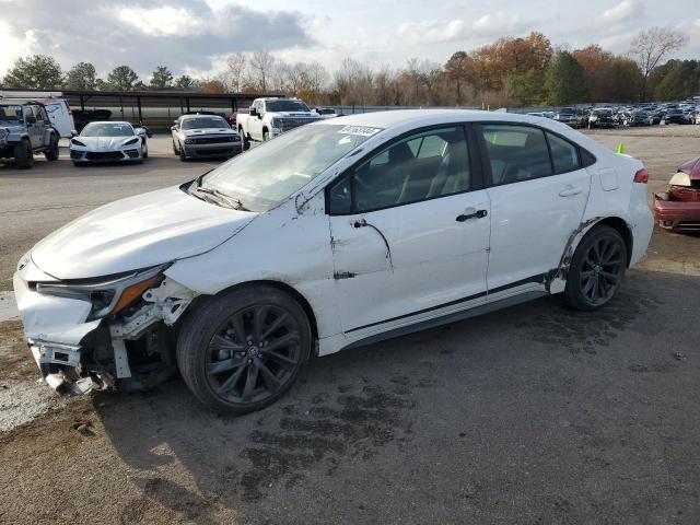
<svg viewBox="0 0 700 525">
<path fill-rule="evenodd" d="M 423 106 L 544 106 L 583 102 L 680 100 L 700 94 L 700 60 L 668 59 L 686 43 L 676 31 L 640 32 L 626 55 L 596 44 L 553 47 L 541 33 L 503 37 L 444 63 L 411 58 L 400 68 L 372 69 L 346 58 L 329 73 L 319 62 L 288 63 L 268 51 L 236 52 L 215 77 L 175 77 L 158 66 L 147 82 L 129 66 L 105 79 L 90 62 L 68 71 L 46 55 L 18 59 L 5 89 L 97 91 L 182 90 L 208 93 L 283 93 L 313 104 Z"/>
</svg>

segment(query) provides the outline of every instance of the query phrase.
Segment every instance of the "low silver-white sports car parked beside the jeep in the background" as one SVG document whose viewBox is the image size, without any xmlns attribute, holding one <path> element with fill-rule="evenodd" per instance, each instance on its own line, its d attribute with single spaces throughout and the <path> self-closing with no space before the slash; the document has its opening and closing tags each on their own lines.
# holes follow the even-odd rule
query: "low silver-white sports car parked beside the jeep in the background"
<svg viewBox="0 0 700 525">
<path fill-rule="evenodd" d="M 70 139 L 70 159 L 75 165 L 94 162 L 140 164 L 149 156 L 147 130 L 129 122 L 90 122 Z"/>
</svg>

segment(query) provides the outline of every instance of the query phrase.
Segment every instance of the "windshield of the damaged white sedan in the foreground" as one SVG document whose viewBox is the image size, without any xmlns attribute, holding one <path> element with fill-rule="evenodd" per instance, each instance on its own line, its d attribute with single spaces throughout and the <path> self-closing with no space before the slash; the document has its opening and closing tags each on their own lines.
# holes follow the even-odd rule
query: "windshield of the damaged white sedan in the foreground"
<svg viewBox="0 0 700 525">
<path fill-rule="evenodd" d="M 201 187 L 269 210 L 358 148 L 378 128 L 307 125 L 237 155 L 207 174 Z"/>
</svg>

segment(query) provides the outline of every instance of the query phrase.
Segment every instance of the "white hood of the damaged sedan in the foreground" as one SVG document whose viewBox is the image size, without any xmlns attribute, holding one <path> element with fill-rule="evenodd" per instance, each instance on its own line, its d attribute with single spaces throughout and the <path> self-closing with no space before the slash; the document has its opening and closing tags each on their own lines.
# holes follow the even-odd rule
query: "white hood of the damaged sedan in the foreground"
<svg viewBox="0 0 700 525">
<path fill-rule="evenodd" d="M 32 260 L 61 280 L 120 273 L 208 252 L 255 217 L 165 188 L 84 214 L 40 241 Z"/>
</svg>

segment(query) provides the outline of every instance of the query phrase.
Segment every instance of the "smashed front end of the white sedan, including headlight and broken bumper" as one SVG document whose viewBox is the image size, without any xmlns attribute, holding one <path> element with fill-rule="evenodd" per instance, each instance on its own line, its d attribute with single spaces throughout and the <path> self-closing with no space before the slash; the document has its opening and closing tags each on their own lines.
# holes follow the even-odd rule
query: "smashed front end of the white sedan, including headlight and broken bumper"
<svg viewBox="0 0 700 525">
<path fill-rule="evenodd" d="M 13 284 L 30 350 L 55 390 L 141 388 L 174 372 L 176 324 L 196 294 L 163 267 L 102 282 L 59 281 L 26 257 Z"/>
</svg>

